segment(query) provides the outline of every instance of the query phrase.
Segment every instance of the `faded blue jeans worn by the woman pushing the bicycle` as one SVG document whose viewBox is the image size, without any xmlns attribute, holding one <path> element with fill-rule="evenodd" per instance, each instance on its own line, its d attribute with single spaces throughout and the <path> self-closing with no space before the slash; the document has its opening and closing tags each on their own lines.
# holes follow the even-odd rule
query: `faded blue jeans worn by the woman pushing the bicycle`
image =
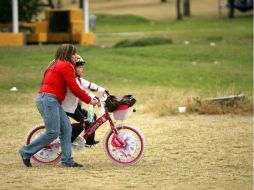
<svg viewBox="0 0 254 190">
<path fill-rule="evenodd" d="M 61 161 L 63 165 L 73 164 L 71 157 L 71 133 L 70 121 L 59 104 L 57 98 L 53 95 L 41 93 L 36 97 L 36 106 L 39 110 L 46 127 L 46 131 L 20 149 L 20 154 L 24 158 L 31 158 L 36 152 L 50 144 L 58 136 L 61 141 Z"/>
</svg>

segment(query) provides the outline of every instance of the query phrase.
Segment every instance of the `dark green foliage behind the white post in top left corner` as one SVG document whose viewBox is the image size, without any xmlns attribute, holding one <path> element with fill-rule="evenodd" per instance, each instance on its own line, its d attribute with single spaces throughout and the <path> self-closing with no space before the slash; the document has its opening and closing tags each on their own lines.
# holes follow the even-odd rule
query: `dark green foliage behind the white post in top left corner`
<svg viewBox="0 0 254 190">
<path fill-rule="evenodd" d="M 39 12 L 39 6 L 35 0 L 18 1 L 19 21 L 29 22 Z M 12 1 L 0 1 L 0 23 L 10 23 L 12 21 Z"/>
</svg>

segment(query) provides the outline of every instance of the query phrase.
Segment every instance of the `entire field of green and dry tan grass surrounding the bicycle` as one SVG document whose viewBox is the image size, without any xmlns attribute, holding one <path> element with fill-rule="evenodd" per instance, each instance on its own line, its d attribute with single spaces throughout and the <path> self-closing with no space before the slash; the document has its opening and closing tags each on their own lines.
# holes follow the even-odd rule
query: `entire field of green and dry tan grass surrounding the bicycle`
<svg viewBox="0 0 254 190">
<path fill-rule="evenodd" d="M 119 2 L 120 12 L 127 5 Z M 140 7 L 142 2 L 139 1 Z M 193 0 L 194 4 L 197 2 Z M 74 152 L 74 159 L 84 168 L 35 163 L 32 168 L 25 168 L 18 150 L 31 127 L 42 123 L 34 98 L 57 45 L 0 47 L 1 190 L 252 189 L 252 18 L 200 18 L 198 15 L 204 13 L 196 12 L 196 16 L 183 22 L 165 21 L 166 18 L 151 21 L 143 16 L 146 12 L 139 15 L 145 19 L 109 16 L 99 11 L 99 4 L 96 6 L 92 7 L 100 13 L 94 31 L 96 46 L 77 46 L 88 62 L 85 76 L 112 94 L 131 93 L 137 98 L 137 112 L 126 122 L 143 132 L 144 158 L 132 167 L 119 167 L 109 161 L 103 151 L 103 138 L 109 129 L 104 124 L 97 132 L 101 143 L 96 148 Z M 111 48 L 119 40 L 154 36 L 173 43 Z M 17 92 L 9 91 L 13 86 Z M 240 93 L 247 98 L 244 109 L 229 107 L 233 110 L 229 114 L 177 111 L 179 105 L 194 97 Z"/>
</svg>

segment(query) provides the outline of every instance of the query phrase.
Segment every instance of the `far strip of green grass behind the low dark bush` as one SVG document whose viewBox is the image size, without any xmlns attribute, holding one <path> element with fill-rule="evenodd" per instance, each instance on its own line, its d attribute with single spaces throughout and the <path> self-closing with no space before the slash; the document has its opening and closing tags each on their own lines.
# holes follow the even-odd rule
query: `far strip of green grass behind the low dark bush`
<svg viewBox="0 0 254 190">
<path fill-rule="evenodd" d="M 98 17 L 98 24 L 96 30 L 94 30 L 98 36 L 96 38 L 98 45 L 114 45 L 123 39 L 132 40 L 140 37 L 165 37 L 172 39 L 174 42 L 184 40 L 200 42 L 219 39 L 237 43 L 240 40 L 243 43 L 252 44 L 252 17 L 238 17 L 235 19 L 191 18 L 180 22 L 147 20 L 135 22 L 131 21 L 133 20 L 133 17 L 131 17 L 129 22 L 123 22 L 123 24 L 117 23 L 117 18 L 109 16 L 109 23 L 104 23 L 100 22 L 100 16 Z"/>
</svg>

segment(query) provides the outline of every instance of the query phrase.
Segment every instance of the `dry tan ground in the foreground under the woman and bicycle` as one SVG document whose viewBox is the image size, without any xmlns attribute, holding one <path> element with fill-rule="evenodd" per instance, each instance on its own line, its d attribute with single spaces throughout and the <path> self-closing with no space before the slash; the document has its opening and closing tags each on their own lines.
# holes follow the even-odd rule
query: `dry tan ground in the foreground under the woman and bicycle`
<svg viewBox="0 0 254 190">
<path fill-rule="evenodd" d="M 58 165 L 25 168 L 18 155 L 29 129 L 41 118 L 34 106 L 5 105 L 0 117 L 0 183 L 10 189 L 195 189 L 248 190 L 253 184 L 251 116 L 176 115 L 154 117 L 136 112 L 126 123 L 138 127 L 146 152 L 135 166 L 114 165 L 101 143 L 74 158 L 81 169 Z"/>
</svg>

